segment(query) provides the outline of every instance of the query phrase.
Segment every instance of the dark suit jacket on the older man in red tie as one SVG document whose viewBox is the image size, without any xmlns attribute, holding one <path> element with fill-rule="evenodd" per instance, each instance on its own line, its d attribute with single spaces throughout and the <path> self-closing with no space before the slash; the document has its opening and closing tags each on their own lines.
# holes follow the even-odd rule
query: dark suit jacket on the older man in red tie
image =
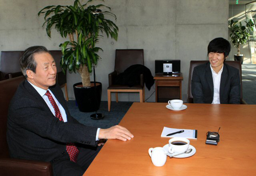
<svg viewBox="0 0 256 176">
<path fill-rule="evenodd" d="M 50 90 L 65 109 L 68 122 L 59 121 L 45 100 L 25 80 L 9 106 L 7 142 L 12 158 L 53 162 L 69 158 L 66 143 L 96 146 L 97 127 L 84 126 L 70 115 L 58 85 Z"/>
</svg>

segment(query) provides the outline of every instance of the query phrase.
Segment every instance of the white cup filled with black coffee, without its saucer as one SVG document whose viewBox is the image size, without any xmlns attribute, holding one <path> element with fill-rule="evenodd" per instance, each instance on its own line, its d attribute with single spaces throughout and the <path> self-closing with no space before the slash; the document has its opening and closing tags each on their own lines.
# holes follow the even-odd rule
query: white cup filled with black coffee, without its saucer
<svg viewBox="0 0 256 176">
<path fill-rule="evenodd" d="M 189 140 L 186 138 L 172 138 L 169 140 L 169 153 L 183 153 L 189 147 Z"/>
</svg>

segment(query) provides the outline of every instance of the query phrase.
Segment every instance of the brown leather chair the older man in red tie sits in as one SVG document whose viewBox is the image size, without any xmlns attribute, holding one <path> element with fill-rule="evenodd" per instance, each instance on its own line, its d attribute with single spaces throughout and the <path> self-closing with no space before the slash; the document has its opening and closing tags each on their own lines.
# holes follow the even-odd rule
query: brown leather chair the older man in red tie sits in
<svg viewBox="0 0 256 176">
<path fill-rule="evenodd" d="M 6 140 L 9 103 L 24 76 L 0 81 L 0 175 L 53 175 L 49 162 L 13 159 L 9 156 Z"/>
</svg>

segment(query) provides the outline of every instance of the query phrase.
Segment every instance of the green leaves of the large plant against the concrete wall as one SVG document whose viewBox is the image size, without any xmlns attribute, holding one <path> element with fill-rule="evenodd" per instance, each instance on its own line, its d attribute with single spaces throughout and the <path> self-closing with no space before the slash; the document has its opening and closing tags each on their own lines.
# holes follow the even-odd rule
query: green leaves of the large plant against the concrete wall
<svg viewBox="0 0 256 176">
<path fill-rule="evenodd" d="M 61 37 L 70 35 L 70 41 L 60 44 L 63 54 L 60 64 L 65 73 L 67 69 L 76 72 L 81 64 L 87 65 L 89 72 L 92 72 L 92 64 L 97 64 L 97 60 L 100 58 L 97 52 L 102 50 L 95 47 L 99 37 L 102 37 L 99 32 L 117 40 L 118 27 L 113 21 L 104 17 L 105 14 L 110 14 L 116 19 L 116 15 L 109 11 L 93 15 L 96 9 L 111 10 L 111 8 L 102 4 L 88 6 L 88 3 L 92 1 L 89 0 L 86 4 L 81 5 L 79 0 L 75 0 L 73 6 L 47 6 L 38 12 L 38 16 L 45 14 L 45 23 L 42 26 L 46 26 L 49 37 L 51 37 L 53 27 Z M 71 36 L 74 34 L 77 35 L 77 41 L 72 40 Z"/>
</svg>

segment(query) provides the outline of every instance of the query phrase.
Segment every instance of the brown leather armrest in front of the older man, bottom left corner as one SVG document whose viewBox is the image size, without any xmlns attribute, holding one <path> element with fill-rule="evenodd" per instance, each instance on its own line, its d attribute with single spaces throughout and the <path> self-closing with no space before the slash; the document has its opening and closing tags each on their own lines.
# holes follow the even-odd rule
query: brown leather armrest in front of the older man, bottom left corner
<svg viewBox="0 0 256 176">
<path fill-rule="evenodd" d="M 0 158 L 0 175 L 52 176 L 53 173 L 49 162 Z"/>
</svg>

